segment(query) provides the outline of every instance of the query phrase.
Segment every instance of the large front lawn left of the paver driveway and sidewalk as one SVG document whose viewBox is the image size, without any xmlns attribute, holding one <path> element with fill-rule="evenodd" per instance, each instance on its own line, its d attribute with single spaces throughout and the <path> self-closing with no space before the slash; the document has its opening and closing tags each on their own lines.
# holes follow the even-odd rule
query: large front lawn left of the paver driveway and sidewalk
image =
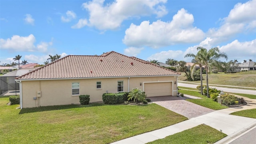
<svg viewBox="0 0 256 144">
<path fill-rule="evenodd" d="M 16 109 L 0 97 L 1 144 L 106 144 L 187 120 L 157 104 Z"/>
</svg>

